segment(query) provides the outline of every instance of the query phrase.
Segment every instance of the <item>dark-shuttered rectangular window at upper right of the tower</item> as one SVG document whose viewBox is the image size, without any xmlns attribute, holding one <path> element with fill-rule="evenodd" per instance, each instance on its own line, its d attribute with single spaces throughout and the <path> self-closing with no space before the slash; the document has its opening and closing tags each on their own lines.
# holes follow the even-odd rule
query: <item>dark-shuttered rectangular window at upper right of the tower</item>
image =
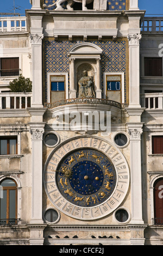
<svg viewBox="0 0 163 256">
<path fill-rule="evenodd" d="M 145 76 L 162 76 L 162 58 L 145 57 Z"/>
</svg>

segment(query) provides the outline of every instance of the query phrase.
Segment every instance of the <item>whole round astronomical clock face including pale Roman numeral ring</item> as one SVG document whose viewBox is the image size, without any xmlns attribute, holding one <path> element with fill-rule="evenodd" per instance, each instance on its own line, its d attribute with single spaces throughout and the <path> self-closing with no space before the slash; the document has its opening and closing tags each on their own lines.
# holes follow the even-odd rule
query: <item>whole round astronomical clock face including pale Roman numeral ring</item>
<svg viewBox="0 0 163 256">
<path fill-rule="evenodd" d="M 129 171 L 123 155 L 98 138 L 61 144 L 44 171 L 46 193 L 55 207 L 80 220 L 104 217 L 126 196 Z"/>
</svg>

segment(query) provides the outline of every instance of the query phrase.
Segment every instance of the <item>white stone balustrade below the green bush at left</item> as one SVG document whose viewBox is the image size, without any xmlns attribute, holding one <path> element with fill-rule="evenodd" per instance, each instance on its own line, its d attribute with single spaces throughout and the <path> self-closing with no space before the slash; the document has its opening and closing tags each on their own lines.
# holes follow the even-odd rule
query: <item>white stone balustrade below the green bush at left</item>
<svg viewBox="0 0 163 256">
<path fill-rule="evenodd" d="M 0 109 L 22 109 L 31 106 L 32 93 L 0 93 Z"/>
</svg>

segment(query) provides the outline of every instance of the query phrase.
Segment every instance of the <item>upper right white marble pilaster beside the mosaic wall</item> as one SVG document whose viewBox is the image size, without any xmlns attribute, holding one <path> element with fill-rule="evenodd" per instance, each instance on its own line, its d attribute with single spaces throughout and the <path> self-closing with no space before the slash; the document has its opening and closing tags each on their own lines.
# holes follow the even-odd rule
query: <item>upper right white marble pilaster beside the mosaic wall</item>
<svg viewBox="0 0 163 256">
<path fill-rule="evenodd" d="M 140 106 L 140 34 L 129 35 L 129 107 Z"/>
</svg>

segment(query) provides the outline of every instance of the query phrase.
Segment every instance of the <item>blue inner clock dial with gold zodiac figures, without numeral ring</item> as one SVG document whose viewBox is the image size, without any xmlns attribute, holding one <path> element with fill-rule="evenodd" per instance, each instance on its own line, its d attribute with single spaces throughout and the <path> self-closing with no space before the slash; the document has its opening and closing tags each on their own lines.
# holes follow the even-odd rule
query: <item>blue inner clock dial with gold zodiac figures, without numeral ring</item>
<svg viewBox="0 0 163 256">
<path fill-rule="evenodd" d="M 56 179 L 60 193 L 69 202 L 90 207 L 108 199 L 116 186 L 116 171 L 110 159 L 94 149 L 76 150 L 59 165 Z"/>
</svg>

